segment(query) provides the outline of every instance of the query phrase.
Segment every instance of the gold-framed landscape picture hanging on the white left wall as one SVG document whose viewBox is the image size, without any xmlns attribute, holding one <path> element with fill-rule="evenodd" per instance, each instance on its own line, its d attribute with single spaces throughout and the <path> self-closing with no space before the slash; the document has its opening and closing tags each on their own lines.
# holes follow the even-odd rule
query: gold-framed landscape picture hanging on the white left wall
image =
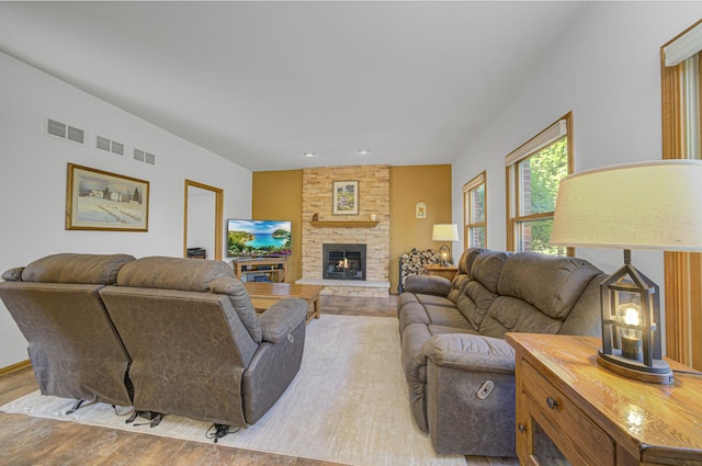
<svg viewBox="0 0 702 466">
<path fill-rule="evenodd" d="M 149 182 L 68 163 L 66 229 L 148 231 Z"/>
</svg>

